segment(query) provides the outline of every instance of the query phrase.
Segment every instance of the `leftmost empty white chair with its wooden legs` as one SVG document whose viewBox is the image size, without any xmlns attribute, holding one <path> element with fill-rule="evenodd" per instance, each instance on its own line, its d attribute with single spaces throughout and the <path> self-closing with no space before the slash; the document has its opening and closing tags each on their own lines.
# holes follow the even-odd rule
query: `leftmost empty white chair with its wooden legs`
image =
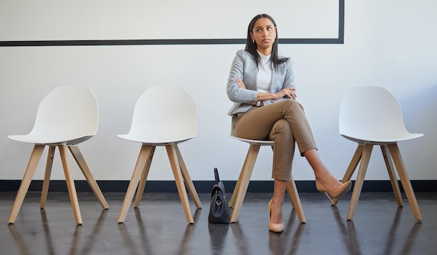
<svg viewBox="0 0 437 255">
<path fill-rule="evenodd" d="M 98 103 L 94 93 L 84 86 L 60 86 L 54 88 L 41 102 L 36 114 L 34 128 L 29 134 L 9 135 L 9 139 L 35 144 L 29 164 L 24 173 L 20 188 L 13 203 L 8 223 L 13 224 L 24 201 L 24 196 L 29 190 L 29 185 L 40 161 L 45 146 L 49 146 L 47 164 L 41 192 L 40 208 L 45 207 L 47 192 L 52 172 L 53 157 L 56 147 L 61 154 L 64 167 L 68 193 L 73 206 L 73 213 L 77 224 L 82 224 L 79 203 L 73 176 L 68 160 L 67 148 L 75 158 L 80 170 L 87 179 L 91 190 L 104 209 L 109 208 L 94 176 L 79 150 L 78 144 L 87 141 L 97 132 Z"/>
</svg>

